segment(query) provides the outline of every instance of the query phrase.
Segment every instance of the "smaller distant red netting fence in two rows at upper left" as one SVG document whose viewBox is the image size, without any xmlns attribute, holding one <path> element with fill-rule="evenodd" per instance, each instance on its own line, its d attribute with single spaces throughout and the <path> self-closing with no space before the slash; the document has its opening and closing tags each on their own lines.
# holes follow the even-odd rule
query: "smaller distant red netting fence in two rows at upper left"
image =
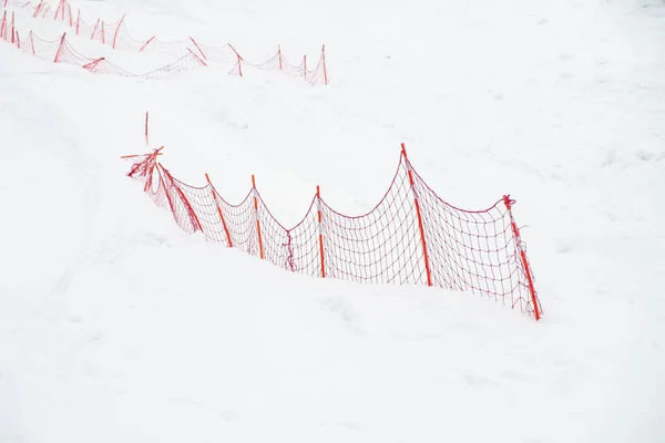
<svg viewBox="0 0 665 443">
<path fill-rule="evenodd" d="M 0 0 L 2 1 L 2 0 Z M 41 0 L 35 6 L 19 0 L 3 0 L 4 7 L 25 9 L 33 18 L 53 19 L 63 22 L 71 29 L 71 34 L 91 41 L 96 41 L 113 49 L 142 52 L 161 53 L 173 58 L 173 62 L 165 66 L 145 73 L 134 73 L 111 63 L 105 58 L 83 55 L 75 50 L 63 33 L 55 40 L 44 40 L 33 31 L 19 32 L 16 27 L 14 13 L 8 14 L 7 9 L 0 22 L 0 38 L 14 44 L 24 52 L 55 63 L 70 63 L 84 68 L 94 73 L 106 73 L 132 78 L 163 78 L 167 74 L 188 71 L 198 66 L 227 65 L 232 75 L 243 76 L 247 69 L 260 71 L 278 71 L 291 76 L 305 79 L 310 84 L 328 84 L 326 66 L 326 48 L 321 48 L 314 68 L 308 66 L 307 55 L 298 64 L 290 63 L 277 47 L 276 53 L 267 61 L 252 63 L 246 61 L 231 44 L 206 45 L 190 37 L 181 41 L 164 42 L 155 35 L 144 41 L 134 39 L 125 24 L 125 16 L 113 22 L 96 19 L 86 22 L 81 18 L 81 11 L 74 14 L 68 0 L 60 0 L 57 7 Z"/>
</svg>

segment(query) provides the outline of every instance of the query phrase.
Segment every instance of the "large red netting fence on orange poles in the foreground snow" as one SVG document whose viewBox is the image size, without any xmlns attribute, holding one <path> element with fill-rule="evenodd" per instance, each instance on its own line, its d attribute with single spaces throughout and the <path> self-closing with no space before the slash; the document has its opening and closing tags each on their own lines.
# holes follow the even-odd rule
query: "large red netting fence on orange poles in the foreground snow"
<svg viewBox="0 0 665 443">
<path fill-rule="evenodd" d="M 340 214 L 317 188 L 305 217 L 291 228 L 270 214 L 254 177 L 246 197 L 234 205 L 207 174 L 203 186 L 173 177 L 158 162 L 160 151 L 129 156 L 135 163 L 127 175 L 187 233 L 201 231 L 208 241 L 293 272 L 469 291 L 519 307 L 536 320 L 542 315 L 512 215 L 515 202 L 503 196 L 484 210 L 443 202 L 413 169 L 403 145 L 392 183 L 372 210 Z"/>
</svg>

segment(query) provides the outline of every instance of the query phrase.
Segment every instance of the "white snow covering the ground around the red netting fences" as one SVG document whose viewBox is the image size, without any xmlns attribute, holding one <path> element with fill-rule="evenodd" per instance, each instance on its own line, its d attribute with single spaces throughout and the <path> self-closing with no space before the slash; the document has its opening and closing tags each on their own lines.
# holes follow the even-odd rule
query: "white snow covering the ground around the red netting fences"
<svg viewBox="0 0 665 443">
<path fill-rule="evenodd" d="M 92 75 L 0 44 L 0 442 L 665 441 L 662 2 L 74 6 L 253 60 L 326 44 L 331 84 Z M 286 226 L 317 185 L 370 209 L 401 142 L 451 204 L 510 193 L 545 316 L 180 231 L 119 158 L 147 151 L 145 111 L 175 177 L 237 202 L 256 174 Z"/>
</svg>

